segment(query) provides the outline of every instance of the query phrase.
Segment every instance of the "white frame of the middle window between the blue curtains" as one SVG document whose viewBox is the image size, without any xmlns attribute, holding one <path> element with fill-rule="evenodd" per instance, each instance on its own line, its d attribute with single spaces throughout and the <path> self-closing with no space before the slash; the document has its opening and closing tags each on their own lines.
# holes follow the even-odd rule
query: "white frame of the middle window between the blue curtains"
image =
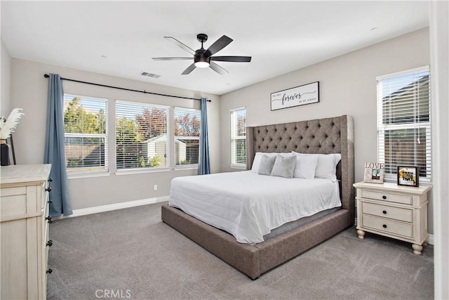
<svg viewBox="0 0 449 300">
<path fill-rule="evenodd" d="M 167 130 L 166 130 L 166 165 L 162 167 L 139 167 L 139 168 L 117 168 L 117 103 L 123 103 L 126 105 L 140 105 L 143 108 L 145 107 L 159 107 L 166 110 L 166 124 L 167 124 Z M 135 120 L 135 119 L 134 119 Z M 129 100 L 121 100 L 116 99 L 114 101 L 114 155 L 115 155 L 115 174 L 116 175 L 126 175 L 126 174 L 142 174 L 142 173 L 156 173 L 156 172 L 163 172 L 163 171 L 170 171 L 171 164 L 170 164 L 170 106 L 169 105 L 159 105 L 159 104 L 153 104 L 153 103 L 145 103 L 145 102 L 138 102 L 138 101 L 129 101 Z"/>
</svg>

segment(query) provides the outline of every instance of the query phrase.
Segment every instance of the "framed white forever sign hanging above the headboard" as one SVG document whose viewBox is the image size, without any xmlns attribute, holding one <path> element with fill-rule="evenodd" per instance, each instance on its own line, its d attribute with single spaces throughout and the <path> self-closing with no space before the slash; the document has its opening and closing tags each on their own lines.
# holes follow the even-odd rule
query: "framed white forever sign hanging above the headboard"
<svg viewBox="0 0 449 300">
<path fill-rule="evenodd" d="M 272 110 L 319 102 L 319 81 L 271 93 Z"/>
</svg>

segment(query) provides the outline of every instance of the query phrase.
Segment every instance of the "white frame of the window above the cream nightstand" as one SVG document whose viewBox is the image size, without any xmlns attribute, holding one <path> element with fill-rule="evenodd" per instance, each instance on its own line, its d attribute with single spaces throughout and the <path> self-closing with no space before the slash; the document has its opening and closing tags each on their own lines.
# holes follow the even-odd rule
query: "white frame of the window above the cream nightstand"
<svg viewBox="0 0 449 300">
<path fill-rule="evenodd" d="M 413 123 L 399 123 L 399 124 L 384 124 L 383 122 L 383 107 L 382 100 L 384 97 L 382 97 L 382 86 L 381 81 L 385 79 L 391 79 L 394 77 L 406 77 L 411 76 L 413 74 L 417 74 L 420 72 L 429 72 L 429 120 L 427 122 L 413 122 Z M 385 153 L 385 135 L 387 131 L 398 131 L 398 130 L 410 130 L 413 129 L 415 131 L 424 130 L 425 136 L 426 136 L 426 145 L 425 145 L 425 152 L 426 152 L 426 168 L 427 168 L 427 174 L 426 176 L 420 176 L 420 183 L 430 183 L 431 182 L 431 78 L 430 78 L 430 67 L 423 66 L 423 67 L 417 67 L 410 70 L 404 70 L 401 72 L 395 72 L 391 74 L 382 75 L 379 77 L 376 77 L 377 81 L 377 160 L 378 162 L 385 163 L 386 153 Z M 418 100 L 419 101 L 419 100 Z M 415 101 L 413 102 L 415 103 Z M 419 104 L 419 103 L 418 103 Z M 418 112 L 419 113 L 419 112 Z M 419 115 L 418 115 L 419 116 Z M 414 144 L 415 145 L 415 144 Z M 413 150 L 413 154 L 415 155 L 417 153 L 417 150 Z M 416 155 L 415 155 L 416 156 Z M 396 165 L 407 165 L 407 164 L 401 164 L 398 162 L 393 162 L 393 164 Z M 396 168 L 391 168 L 391 173 L 387 173 L 387 168 L 385 169 L 384 173 L 384 180 L 387 182 L 394 182 L 396 183 L 397 180 L 397 174 L 396 174 Z"/>
</svg>

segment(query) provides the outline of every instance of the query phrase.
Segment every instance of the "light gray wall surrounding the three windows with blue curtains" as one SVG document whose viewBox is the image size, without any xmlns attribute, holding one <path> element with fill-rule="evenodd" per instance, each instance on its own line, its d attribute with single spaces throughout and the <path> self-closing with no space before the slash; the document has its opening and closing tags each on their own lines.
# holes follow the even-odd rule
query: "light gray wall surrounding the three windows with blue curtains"
<svg viewBox="0 0 449 300">
<path fill-rule="evenodd" d="M 69 79 L 121 86 L 127 89 L 146 90 L 189 98 L 206 97 L 211 99 L 212 102 L 208 103 L 210 165 L 211 171 L 220 171 L 219 96 L 13 58 L 11 62 L 11 107 L 21 107 L 25 113 L 25 116 L 20 119 L 20 124 L 14 136 L 15 155 L 18 164 L 43 163 L 48 93 L 48 79 L 44 78 L 43 74 L 48 73 L 60 74 L 61 77 Z M 65 93 L 107 98 L 109 120 L 114 120 L 113 107 L 116 99 L 170 105 L 172 107 L 200 108 L 200 101 L 198 100 L 121 91 L 75 83 L 73 81 L 63 82 Z M 109 176 L 69 179 L 69 193 L 73 209 L 167 196 L 170 194 L 170 181 L 172 178 L 197 174 L 196 170 L 170 170 L 157 173 L 116 175 L 113 159 L 115 157 L 115 146 L 112 145 L 114 143 L 114 135 L 114 122 L 109 122 Z M 154 191 L 153 185 L 158 185 L 158 190 Z"/>
</svg>

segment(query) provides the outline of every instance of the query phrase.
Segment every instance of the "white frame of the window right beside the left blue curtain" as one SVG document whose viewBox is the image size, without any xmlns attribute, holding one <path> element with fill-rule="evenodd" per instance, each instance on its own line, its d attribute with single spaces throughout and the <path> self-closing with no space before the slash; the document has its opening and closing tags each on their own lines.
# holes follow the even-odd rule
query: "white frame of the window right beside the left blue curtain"
<svg viewBox="0 0 449 300">
<path fill-rule="evenodd" d="M 67 153 L 65 153 L 65 165 L 67 170 L 67 178 L 84 178 L 84 177 L 99 177 L 99 176 L 109 176 L 109 99 L 102 97 L 94 97 L 94 96 L 86 96 L 79 95 L 74 93 L 64 93 L 63 95 L 63 111 L 62 117 L 65 115 L 65 103 L 66 98 L 80 98 L 81 100 L 99 100 L 105 103 L 105 133 L 66 133 L 64 130 L 64 139 L 65 138 L 104 138 L 105 147 L 104 147 L 104 157 L 105 157 L 105 166 L 97 167 L 97 168 L 73 168 L 67 166 Z M 65 122 L 64 122 L 65 125 Z M 65 148 L 65 145 L 64 145 Z M 66 151 L 66 150 L 65 150 Z"/>
</svg>

